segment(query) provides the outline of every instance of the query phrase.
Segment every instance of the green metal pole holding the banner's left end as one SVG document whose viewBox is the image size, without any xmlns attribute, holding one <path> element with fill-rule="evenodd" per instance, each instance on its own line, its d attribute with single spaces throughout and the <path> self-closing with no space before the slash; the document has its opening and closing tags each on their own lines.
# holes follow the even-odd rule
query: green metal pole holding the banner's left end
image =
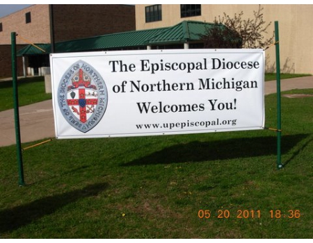
<svg viewBox="0 0 313 243">
<path fill-rule="evenodd" d="M 16 33 L 15 32 L 11 33 L 11 51 L 12 51 L 12 78 L 13 78 L 16 154 L 17 154 L 17 163 L 18 163 L 18 168 L 19 168 L 19 186 L 23 186 L 25 185 L 25 182 L 24 182 L 21 133 L 19 129 L 19 95 L 17 91 Z"/>
</svg>

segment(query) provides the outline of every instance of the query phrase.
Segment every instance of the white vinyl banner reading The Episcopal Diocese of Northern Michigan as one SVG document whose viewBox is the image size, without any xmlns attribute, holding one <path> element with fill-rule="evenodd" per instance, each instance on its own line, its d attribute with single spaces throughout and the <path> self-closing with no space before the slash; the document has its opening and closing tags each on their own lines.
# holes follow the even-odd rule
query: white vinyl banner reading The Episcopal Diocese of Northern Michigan
<svg viewBox="0 0 313 243">
<path fill-rule="evenodd" d="M 264 127 L 262 49 L 54 53 L 56 137 Z"/>
</svg>

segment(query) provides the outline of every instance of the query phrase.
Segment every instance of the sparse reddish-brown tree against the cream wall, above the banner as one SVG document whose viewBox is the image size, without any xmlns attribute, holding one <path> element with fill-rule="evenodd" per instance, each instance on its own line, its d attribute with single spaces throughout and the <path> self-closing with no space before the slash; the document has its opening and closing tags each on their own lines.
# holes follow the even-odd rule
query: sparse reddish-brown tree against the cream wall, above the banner
<svg viewBox="0 0 313 243">
<path fill-rule="evenodd" d="M 266 24 L 259 5 L 257 11 L 253 11 L 253 19 L 243 19 L 243 11 L 230 17 L 224 12 L 224 16 L 215 18 L 214 25 L 207 28 L 202 36 L 205 48 L 261 48 L 264 49 L 273 42 L 274 33 L 266 39 L 264 34 L 271 22 Z M 224 28 L 220 26 L 224 25 Z M 239 42 L 239 39 L 241 42 Z"/>
</svg>

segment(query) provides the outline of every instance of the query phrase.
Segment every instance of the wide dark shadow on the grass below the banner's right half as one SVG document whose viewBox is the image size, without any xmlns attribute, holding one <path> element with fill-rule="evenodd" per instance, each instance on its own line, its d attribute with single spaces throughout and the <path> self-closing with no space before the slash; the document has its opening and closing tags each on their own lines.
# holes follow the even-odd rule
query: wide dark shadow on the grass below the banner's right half
<svg viewBox="0 0 313 243">
<path fill-rule="evenodd" d="M 294 148 L 308 135 L 283 135 L 282 154 Z M 301 150 L 301 149 L 300 149 Z M 298 150 L 294 152 L 296 156 Z M 143 158 L 127 162 L 122 166 L 170 164 L 179 162 L 202 162 L 210 160 L 229 160 L 277 154 L 277 138 L 248 137 L 210 142 L 190 142 L 167 147 Z"/>
</svg>

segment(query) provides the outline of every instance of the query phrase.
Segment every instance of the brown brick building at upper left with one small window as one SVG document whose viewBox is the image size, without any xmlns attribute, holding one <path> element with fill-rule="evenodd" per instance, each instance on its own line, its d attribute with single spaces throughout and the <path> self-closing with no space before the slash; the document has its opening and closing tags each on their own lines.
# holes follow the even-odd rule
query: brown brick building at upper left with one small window
<svg viewBox="0 0 313 243">
<path fill-rule="evenodd" d="M 17 33 L 17 45 L 29 42 L 48 44 L 51 42 L 52 19 L 54 42 L 136 29 L 135 6 L 131 5 L 36 4 L 24 8 L 0 18 L 0 78 L 11 76 L 10 33 Z M 47 58 L 24 58 L 24 62 L 37 72 L 36 68 L 47 62 Z M 21 66 L 22 58 L 19 58 L 18 67 Z M 23 69 L 18 68 L 18 75 L 23 75 Z"/>
</svg>

